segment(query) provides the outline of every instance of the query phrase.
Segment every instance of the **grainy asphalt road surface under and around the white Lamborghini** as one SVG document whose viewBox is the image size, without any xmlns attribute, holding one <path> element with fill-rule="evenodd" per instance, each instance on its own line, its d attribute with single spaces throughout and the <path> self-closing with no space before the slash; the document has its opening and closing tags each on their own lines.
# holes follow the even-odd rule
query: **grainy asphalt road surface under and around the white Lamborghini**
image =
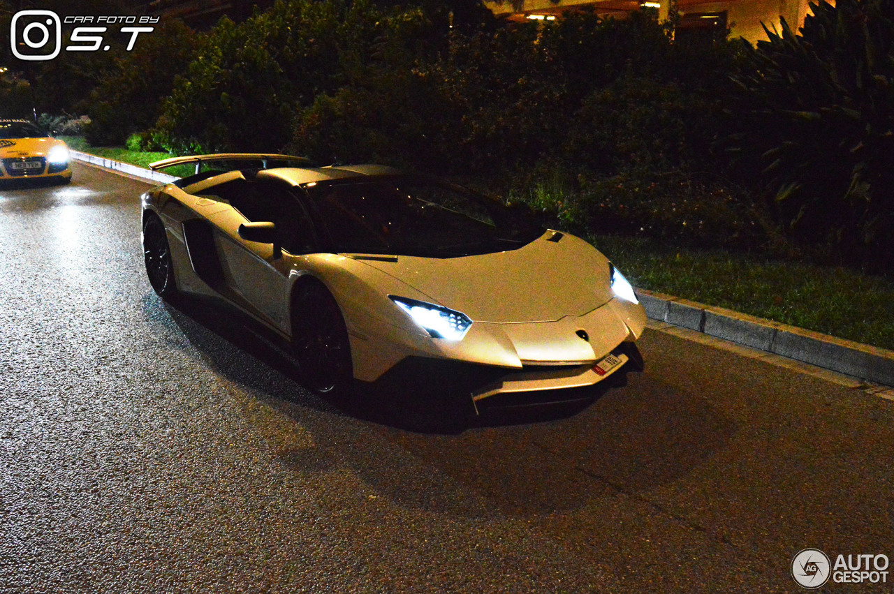
<svg viewBox="0 0 894 594">
<path fill-rule="evenodd" d="M 0 592 L 799 591 L 803 548 L 894 559 L 890 400 L 647 330 L 578 414 L 356 418 L 156 297 L 145 188 L 0 188 Z"/>
</svg>

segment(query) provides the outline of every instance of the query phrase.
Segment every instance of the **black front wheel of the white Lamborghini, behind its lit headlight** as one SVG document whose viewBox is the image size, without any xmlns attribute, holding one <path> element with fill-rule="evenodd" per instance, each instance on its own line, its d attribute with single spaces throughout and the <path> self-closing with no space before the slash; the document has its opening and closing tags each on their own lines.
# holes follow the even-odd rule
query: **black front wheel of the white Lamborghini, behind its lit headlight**
<svg viewBox="0 0 894 594">
<path fill-rule="evenodd" d="M 319 282 L 300 283 L 292 298 L 291 343 L 305 387 L 350 402 L 353 366 L 342 310 Z"/>
</svg>

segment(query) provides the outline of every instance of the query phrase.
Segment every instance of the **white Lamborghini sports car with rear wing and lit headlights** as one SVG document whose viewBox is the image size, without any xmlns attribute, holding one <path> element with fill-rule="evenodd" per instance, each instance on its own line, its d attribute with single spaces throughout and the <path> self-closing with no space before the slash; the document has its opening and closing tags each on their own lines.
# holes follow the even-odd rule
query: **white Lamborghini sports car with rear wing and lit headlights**
<svg viewBox="0 0 894 594">
<path fill-rule="evenodd" d="M 184 164 L 190 175 L 142 197 L 152 287 L 223 297 L 291 345 L 317 393 L 415 377 L 477 412 L 642 370 L 628 281 L 521 209 L 381 165 L 199 155 L 152 168 Z"/>
</svg>

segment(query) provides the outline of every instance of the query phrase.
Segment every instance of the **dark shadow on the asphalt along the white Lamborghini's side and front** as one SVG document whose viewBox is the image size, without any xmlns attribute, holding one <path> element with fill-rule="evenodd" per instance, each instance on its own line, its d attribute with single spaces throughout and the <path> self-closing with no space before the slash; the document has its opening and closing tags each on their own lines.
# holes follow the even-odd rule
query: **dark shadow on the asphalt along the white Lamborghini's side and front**
<svg viewBox="0 0 894 594">
<path fill-rule="evenodd" d="M 628 386 L 597 390 L 561 412 L 484 419 L 466 431 L 406 431 L 387 406 L 345 412 L 301 389 L 282 347 L 228 306 L 190 298 L 164 307 L 215 372 L 246 388 L 240 397 L 252 402 L 240 406 L 266 406 L 286 421 L 277 431 L 300 433 L 268 439 L 296 481 L 348 472 L 369 497 L 395 506 L 462 517 L 574 512 L 677 481 L 736 433 L 710 395 L 672 389 L 648 366 Z M 247 418 L 271 431 L 262 426 L 269 417 Z"/>
</svg>

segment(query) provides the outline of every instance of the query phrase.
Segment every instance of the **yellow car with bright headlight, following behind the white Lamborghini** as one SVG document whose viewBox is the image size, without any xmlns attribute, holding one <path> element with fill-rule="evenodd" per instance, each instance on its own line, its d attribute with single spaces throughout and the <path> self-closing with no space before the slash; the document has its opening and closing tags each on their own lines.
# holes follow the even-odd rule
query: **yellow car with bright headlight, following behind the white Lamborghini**
<svg viewBox="0 0 894 594">
<path fill-rule="evenodd" d="M 68 146 L 26 120 L 0 120 L 0 180 L 72 179 Z"/>
</svg>

